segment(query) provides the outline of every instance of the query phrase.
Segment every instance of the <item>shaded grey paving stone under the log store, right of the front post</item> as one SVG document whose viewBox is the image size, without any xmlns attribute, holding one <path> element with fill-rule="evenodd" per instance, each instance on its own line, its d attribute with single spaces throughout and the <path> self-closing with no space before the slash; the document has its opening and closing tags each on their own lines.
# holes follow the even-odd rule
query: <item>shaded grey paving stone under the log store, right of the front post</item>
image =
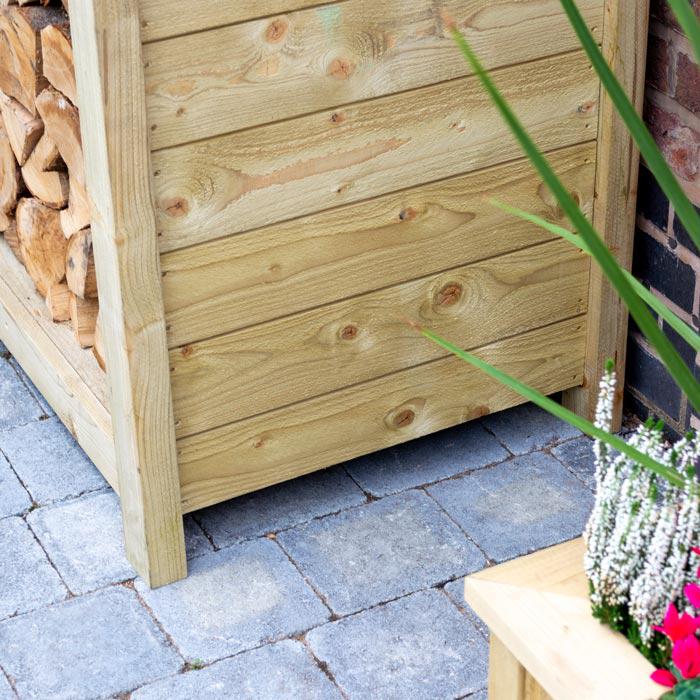
<svg viewBox="0 0 700 700">
<path fill-rule="evenodd" d="M 195 517 L 214 544 L 225 547 L 365 500 L 357 484 L 333 468 L 205 508 Z"/>
</svg>

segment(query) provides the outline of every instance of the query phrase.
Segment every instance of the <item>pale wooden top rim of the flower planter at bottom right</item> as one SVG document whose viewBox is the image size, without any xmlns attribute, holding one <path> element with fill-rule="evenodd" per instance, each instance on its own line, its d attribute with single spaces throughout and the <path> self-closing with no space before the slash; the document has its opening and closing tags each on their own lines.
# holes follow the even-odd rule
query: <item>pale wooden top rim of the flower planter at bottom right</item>
<svg viewBox="0 0 700 700">
<path fill-rule="evenodd" d="M 583 553 L 577 539 L 469 576 L 467 602 L 541 687 L 540 698 L 658 697 L 653 666 L 591 615 Z"/>
</svg>

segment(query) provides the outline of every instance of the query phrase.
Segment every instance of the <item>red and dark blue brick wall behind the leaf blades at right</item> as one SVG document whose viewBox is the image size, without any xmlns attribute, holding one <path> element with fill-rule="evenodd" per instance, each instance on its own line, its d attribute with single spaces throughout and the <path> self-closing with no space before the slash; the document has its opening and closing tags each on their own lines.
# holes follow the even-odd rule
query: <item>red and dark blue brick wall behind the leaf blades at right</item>
<svg viewBox="0 0 700 700">
<path fill-rule="evenodd" d="M 693 1 L 700 16 L 700 0 Z M 700 210 L 700 67 L 665 0 L 652 0 L 644 114 L 667 161 Z M 700 329 L 700 255 L 644 164 L 639 178 L 633 272 Z M 700 377 L 700 358 L 672 329 L 664 330 Z M 640 418 L 655 414 L 666 421 L 671 432 L 700 429 L 698 416 L 693 415 L 634 323 L 627 357 L 627 410 Z"/>
</svg>

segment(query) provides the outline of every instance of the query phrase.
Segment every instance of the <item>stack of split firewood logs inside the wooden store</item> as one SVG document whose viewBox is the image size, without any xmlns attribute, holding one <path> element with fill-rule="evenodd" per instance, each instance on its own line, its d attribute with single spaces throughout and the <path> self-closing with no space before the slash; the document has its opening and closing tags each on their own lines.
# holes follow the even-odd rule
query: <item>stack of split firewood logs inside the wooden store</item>
<svg viewBox="0 0 700 700">
<path fill-rule="evenodd" d="M 0 231 L 104 368 L 68 0 L 0 0 Z"/>
</svg>

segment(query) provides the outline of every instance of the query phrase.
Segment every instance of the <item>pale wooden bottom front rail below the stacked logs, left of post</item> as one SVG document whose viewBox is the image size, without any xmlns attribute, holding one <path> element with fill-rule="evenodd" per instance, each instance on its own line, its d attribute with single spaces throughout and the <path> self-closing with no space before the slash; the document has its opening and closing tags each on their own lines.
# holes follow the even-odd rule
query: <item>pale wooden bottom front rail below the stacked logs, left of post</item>
<svg viewBox="0 0 700 700">
<path fill-rule="evenodd" d="M 119 492 L 105 376 L 70 328 L 51 321 L 22 265 L 0 240 L 0 338 Z"/>
</svg>

